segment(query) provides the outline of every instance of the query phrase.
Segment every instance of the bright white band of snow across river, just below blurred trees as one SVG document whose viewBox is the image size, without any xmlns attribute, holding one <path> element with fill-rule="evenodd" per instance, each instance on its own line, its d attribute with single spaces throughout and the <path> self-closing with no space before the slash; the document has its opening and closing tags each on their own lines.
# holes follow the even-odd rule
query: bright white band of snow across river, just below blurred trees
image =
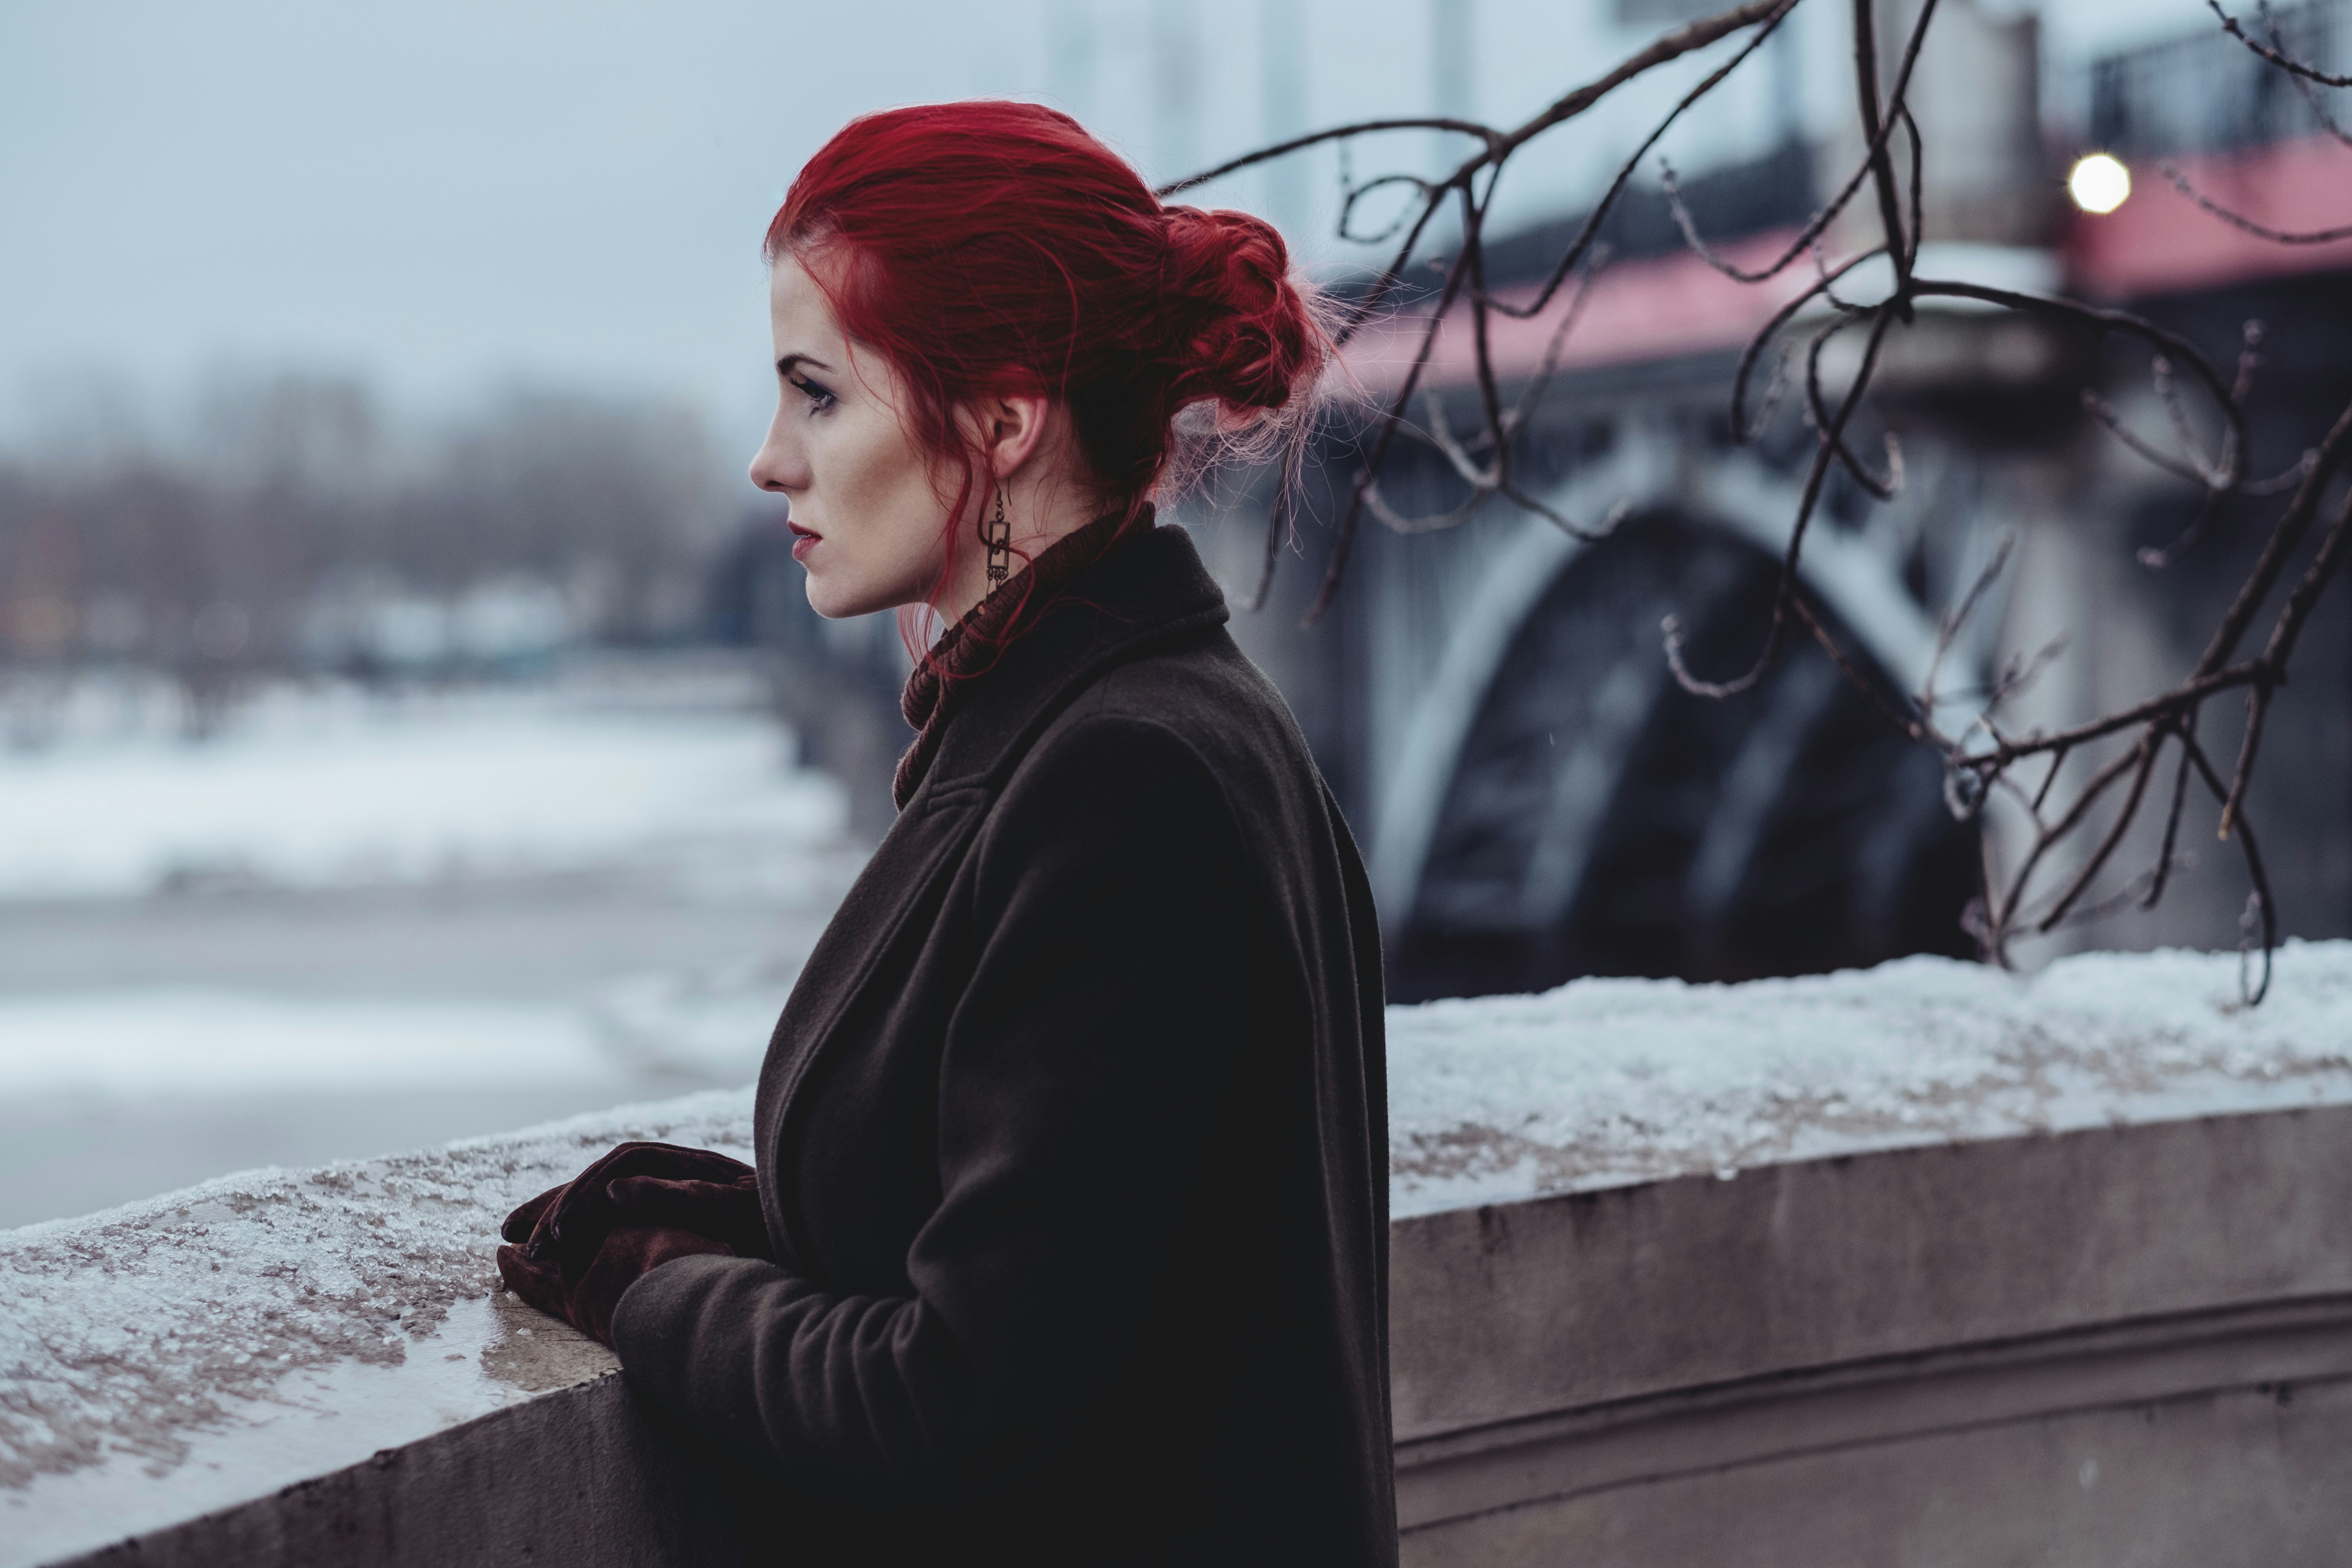
<svg viewBox="0 0 2352 1568">
<path fill-rule="evenodd" d="M 278 689 L 202 743 L 143 708 L 0 752 L 0 898 L 461 882 L 628 863 L 790 877 L 840 785 L 741 705 L 600 686 Z M 750 863 L 748 849 L 757 849 Z"/>
</svg>

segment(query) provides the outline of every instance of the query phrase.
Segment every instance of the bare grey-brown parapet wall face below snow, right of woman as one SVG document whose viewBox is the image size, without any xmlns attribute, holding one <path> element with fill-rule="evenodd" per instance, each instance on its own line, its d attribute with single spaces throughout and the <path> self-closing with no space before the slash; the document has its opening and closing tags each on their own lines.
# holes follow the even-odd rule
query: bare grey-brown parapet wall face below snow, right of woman
<svg viewBox="0 0 2352 1568">
<path fill-rule="evenodd" d="M 2340 1563 L 2347 1194 L 2331 1107 L 1406 1220 L 1406 1559 Z"/>
</svg>

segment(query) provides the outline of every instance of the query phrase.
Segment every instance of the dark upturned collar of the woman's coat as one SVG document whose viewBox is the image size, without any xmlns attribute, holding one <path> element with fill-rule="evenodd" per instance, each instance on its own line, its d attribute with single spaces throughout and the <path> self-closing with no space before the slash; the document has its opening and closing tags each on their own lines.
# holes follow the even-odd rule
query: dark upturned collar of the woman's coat
<svg viewBox="0 0 2352 1568">
<path fill-rule="evenodd" d="M 1225 618 L 1225 595 L 1183 529 L 1145 527 L 1122 538 L 1073 571 L 1030 630 L 974 679 L 908 809 L 993 788 L 1098 672 Z"/>
</svg>

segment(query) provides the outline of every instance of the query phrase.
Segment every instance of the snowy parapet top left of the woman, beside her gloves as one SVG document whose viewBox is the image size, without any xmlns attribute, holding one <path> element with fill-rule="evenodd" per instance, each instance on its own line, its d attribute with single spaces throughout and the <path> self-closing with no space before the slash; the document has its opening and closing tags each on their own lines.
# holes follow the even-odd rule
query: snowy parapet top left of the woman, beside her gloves
<svg viewBox="0 0 2352 1568">
<path fill-rule="evenodd" d="M 494 1251 L 515 1204 L 623 1138 L 750 1159 L 750 1088 L 0 1232 L 0 1568 L 609 1373 L 602 1345 L 499 1293 Z"/>
</svg>

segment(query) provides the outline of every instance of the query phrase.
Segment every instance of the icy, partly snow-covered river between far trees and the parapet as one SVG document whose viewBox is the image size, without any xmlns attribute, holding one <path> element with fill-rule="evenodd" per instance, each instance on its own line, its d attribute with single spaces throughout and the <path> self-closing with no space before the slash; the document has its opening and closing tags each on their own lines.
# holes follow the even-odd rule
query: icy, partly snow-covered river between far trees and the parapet
<svg viewBox="0 0 2352 1568">
<path fill-rule="evenodd" d="M 0 757 L 0 1227 L 748 1081 L 861 860 L 755 698 L 280 693 Z"/>
</svg>

